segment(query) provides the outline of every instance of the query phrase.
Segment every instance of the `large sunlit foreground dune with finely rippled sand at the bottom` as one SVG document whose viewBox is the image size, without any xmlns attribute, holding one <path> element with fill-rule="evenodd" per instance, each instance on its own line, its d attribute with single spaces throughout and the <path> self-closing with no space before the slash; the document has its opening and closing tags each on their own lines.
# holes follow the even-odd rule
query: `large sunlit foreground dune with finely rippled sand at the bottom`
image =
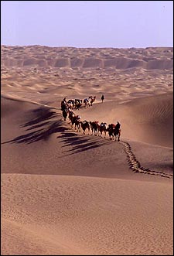
<svg viewBox="0 0 174 256">
<path fill-rule="evenodd" d="M 3 254 L 172 253 L 171 184 L 22 174 L 2 181 Z"/>
</svg>

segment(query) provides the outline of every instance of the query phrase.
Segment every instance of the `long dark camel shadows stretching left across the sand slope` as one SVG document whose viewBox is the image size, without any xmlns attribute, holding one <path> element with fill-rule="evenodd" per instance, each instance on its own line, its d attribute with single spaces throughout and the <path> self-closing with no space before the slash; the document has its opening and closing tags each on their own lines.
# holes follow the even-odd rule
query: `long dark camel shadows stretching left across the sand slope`
<svg viewBox="0 0 174 256">
<path fill-rule="evenodd" d="M 64 153 L 67 153 L 66 155 L 72 155 L 78 152 L 87 151 L 91 148 L 98 148 L 101 147 L 101 145 L 109 143 L 103 139 L 101 141 L 98 140 L 96 136 L 81 136 L 75 131 L 70 131 L 70 128 L 66 127 L 62 115 L 53 111 L 53 108 L 41 107 L 29 111 L 29 114 L 31 115 L 32 120 L 27 121 L 19 127 L 26 128 L 26 131 L 30 132 L 15 137 L 7 142 L 2 142 L 2 145 L 7 143 L 31 144 L 33 142 L 39 142 L 40 140 L 46 141 L 53 133 L 60 133 L 57 138 L 60 138 L 61 142 L 63 142 L 62 147 L 66 148 L 67 146 L 70 146 L 70 149 Z"/>
</svg>

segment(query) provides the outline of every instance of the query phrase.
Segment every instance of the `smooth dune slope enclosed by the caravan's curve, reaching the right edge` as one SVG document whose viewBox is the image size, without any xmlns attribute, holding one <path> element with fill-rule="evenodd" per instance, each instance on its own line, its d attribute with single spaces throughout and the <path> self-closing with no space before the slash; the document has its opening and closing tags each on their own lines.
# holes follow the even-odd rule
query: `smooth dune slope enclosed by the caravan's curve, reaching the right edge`
<svg viewBox="0 0 174 256">
<path fill-rule="evenodd" d="M 84 119 L 90 120 L 93 116 L 94 120 L 107 124 L 120 121 L 124 124 L 121 129 L 124 138 L 166 147 L 173 145 L 172 94 L 142 97 L 123 104 L 108 101 L 104 105 L 95 104 L 94 108 L 84 108 L 79 113 Z"/>
</svg>

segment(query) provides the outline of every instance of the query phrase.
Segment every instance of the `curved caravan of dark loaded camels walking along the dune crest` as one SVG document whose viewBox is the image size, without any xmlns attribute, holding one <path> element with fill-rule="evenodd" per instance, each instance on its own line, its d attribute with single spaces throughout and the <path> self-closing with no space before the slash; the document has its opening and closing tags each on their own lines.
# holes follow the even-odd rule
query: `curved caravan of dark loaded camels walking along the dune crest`
<svg viewBox="0 0 174 256">
<path fill-rule="evenodd" d="M 83 131 L 84 135 L 86 131 L 88 132 L 88 135 L 98 135 L 98 136 L 103 136 L 106 138 L 106 135 L 108 133 L 108 136 L 111 140 L 115 140 L 118 142 L 120 141 L 120 136 L 121 136 L 121 125 L 118 122 L 116 125 L 115 124 L 109 124 L 107 125 L 106 122 L 101 122 L 99 124 L 99 121 L 87 121 L 84 120 L 82 121 L 80 118 L 80 115 L 75 114 L 73 109 L 77 110 L 79 109 L 83 104 L 87 108 L 89 106 L 92 106 L 93 102 L 95 101 L 96 97 L 90 96 L 88 99 L 82 100 L 68 100 L 66 101 L 66 97 L 61 101 L 61 110 L 63 114 L 64 121 L 69 118 L 70 123 L 71 123 L 71 128 L 75 128 L 77 131 Z M 86 101 L 87 100 L 87 101 Z M 89 103 L 90 102 L 90 103 Z"/>
</svg>

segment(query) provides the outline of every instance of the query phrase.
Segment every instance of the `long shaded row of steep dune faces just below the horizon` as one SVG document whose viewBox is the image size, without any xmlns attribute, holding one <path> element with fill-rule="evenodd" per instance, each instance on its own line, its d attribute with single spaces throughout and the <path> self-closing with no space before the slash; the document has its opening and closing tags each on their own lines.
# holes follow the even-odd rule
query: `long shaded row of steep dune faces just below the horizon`
<svg viewBox="0 0 174 256">
<path fill-rule="evenodd" d="M 117 69 L 127 69 L 132 67 L 142 67 L 147 70 L 151 69 L 172 69 L 173 61 L 172 60 L 144 60 L 129 59 L 126 57 L 118 57 L 113 59 L 97 59 L 94 57 L 86 57 L 75 60 L 70 60 L 70 58 L 59 58 L 59 59 L 48 59 L 48 60 L 39 60 L 40 58 L 29 58 L 26 60 L 15 60 L 7 59 L 2 61 L 2 65 L 5 67 L 25 67 L 25 66 L 34 66 L 34 67 L 81 67 L 81 68 L 107 68 L 114 67 Z M 2 59 L 3 60 L 3 59 Z"/>
</svg>

